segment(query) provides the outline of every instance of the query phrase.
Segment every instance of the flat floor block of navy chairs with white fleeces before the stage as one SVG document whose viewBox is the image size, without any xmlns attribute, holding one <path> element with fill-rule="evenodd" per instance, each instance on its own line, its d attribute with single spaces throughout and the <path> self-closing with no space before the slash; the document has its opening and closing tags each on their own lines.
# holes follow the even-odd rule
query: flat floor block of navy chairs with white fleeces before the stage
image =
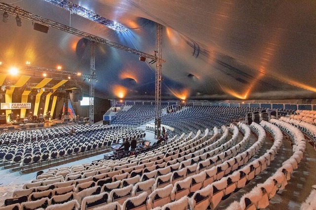
<svg viewBox="0 0 316 210">
<path fill-rule="evenodd" d="M 6 132 L 0 135 L 0 160 L 4 164 L 26 165 L 50 163 L 51 160 L 72 158 L 118 143 L 125 138 L 142 138 L 143 132 L 133 128 L 106 125 L 76 125 L 29 131 Z"/>
</svg>

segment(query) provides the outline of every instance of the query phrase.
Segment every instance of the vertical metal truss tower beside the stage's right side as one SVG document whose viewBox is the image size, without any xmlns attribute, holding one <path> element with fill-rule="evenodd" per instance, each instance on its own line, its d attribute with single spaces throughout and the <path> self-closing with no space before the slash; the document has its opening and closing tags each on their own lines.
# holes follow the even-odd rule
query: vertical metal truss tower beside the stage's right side
<svg viewBox="0 0 316 210">
<path fill-rule="evenodd" d="M 95 75 L 95 42 L 90 41 L 90 75 Z M 96 79 L 90 79 L 90 88 L 89 88 L 89 119 L 90 125 L 94 123 L 94 83 Z"/>
</svg>

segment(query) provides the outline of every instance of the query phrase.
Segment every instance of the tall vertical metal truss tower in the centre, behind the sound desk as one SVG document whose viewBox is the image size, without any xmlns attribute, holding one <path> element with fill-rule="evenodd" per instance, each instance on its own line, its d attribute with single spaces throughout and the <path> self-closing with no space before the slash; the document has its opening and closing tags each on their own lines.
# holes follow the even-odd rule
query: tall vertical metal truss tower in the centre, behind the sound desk
<svg viewBox="0 0 316 210">
<path fill-rule="evenodd" d="M 155 82 L 155 126 L 157 139 L 160 136 L 161 119 L 161 60 L 162 60 L 162 26 L 156 23 L 156 82 Z"/>
</svg>

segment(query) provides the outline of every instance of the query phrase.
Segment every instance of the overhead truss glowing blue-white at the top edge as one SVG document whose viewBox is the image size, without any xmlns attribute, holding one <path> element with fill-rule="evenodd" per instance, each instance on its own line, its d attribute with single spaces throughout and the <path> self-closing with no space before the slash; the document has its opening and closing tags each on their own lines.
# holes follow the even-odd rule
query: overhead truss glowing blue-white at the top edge
<svg viewBox="0 0 316 210">
<path fill-rule="evenodd" d="M 97 13 L 88 10 L 82 6 L 79 6 L 78 4 L 72 3 L 69 0 L 45 0 L 49 3 L 52 3 L 54 5 L 57 5 L 59 7 L 62 7 L 72 13 L 75 13 L 81 17 L 87 18 L 89 20 L 92 20 L 96 23 L 102 24 L 110 29 L 113 29 L 117 32 L 126 32 L 127 28 L 124 27 L 123 25 L 114 22 L 112 20 L 109 20 L 105 17 L 102 17 L 98 15 Z"/>
</svg>

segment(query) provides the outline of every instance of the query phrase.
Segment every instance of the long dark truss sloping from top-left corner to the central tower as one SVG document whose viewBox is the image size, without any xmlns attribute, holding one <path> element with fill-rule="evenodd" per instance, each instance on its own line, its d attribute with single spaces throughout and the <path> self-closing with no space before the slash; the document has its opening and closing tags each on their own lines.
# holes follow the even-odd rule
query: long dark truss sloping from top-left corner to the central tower
<svg viewBox="0 0 316 210">
<path fill-rule="evenodd" d="M 117 48 L 117 49 L 129 52 L 129 53 L 133 53 L 133 54 L 136 54 L 136 55 L 139 55 L 139 56 L 151 59 L 151 60 L 157 60 L 158 59 L 154 55 L 150 55 L 148 53 L 144 53 L 144 52 L 135 50 L 133 48 L 124 46 L 122 44 L 118 44 L 116 42 L 107 40 L 105 38 L 101 38 L 101 37 L 96 36 L 96 35 L 91 35 L 89 33 L 79 31 L 79 30 L 74 29 L 72 27 L 69 27 L 69 26 L 66 26 L 64 24 L 61 24 L 61 23 L 58 23 L 58 22 L 55 22 L 55 21 L 43 18 L 43 17 L 41 17 L 39 15 L 30 13 L 30 12 L 28 12 L 26 10 L 23 10 L 23 9 L 18 8 L 18 7 L 14 7 L 14 6 L 8 5 L 6 3 L 0 2 L 0 11 L 7 12 L 10 15 L 19 16 L 20 18 L 23 18 L 23 19 L 26 19 L 26 20 L 35 21 L 37 23 L 40 23 L 41 25 L 48 26 L 50 28 L 54 28 L 54 29 L 57 29 L 57 30 L 60 30 L 60 31 L 64 31 L 64 32 L 67 32 L 69 34 L 77 35 L 77 36 L 80 36 L 82 38 L 86 38 L 86 39 L 88 39 L 90 41 L 106 44 L 106 45 L 109 45 L 111 47 L 114 47 L 114 48 Z M 165 60 L 161 59 L 160 62 L 165 63 Z"/>
</svg>

